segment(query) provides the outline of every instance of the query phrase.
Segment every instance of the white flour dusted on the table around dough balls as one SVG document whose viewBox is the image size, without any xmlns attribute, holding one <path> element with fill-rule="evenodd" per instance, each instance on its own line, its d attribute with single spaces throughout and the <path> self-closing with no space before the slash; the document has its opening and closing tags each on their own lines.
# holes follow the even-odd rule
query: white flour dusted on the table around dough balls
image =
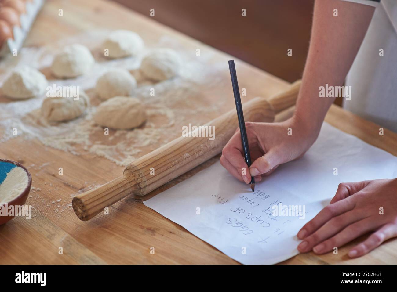
<svg viewBox="0 0 397 292">
<path fill-rule="evenodd" d="M 10 69 L 19 65 L 29 65 L 39 69 L 53 86 L 80 86 L 91 100 L 91 107 L 77 119 L 64 123 L 48 122 L 40 115 L 40 107 L 46 94 L 27 100 L 13 101 L 0 96 L 0 142 L 17 136 L 25 139 L 38 139 L 42 144 L 70 152 L 75 155 L 94 154 L 118 165 L 127 165 L 144 154 L 181 135 L 181 127 L 187 121 L 202 125 L 222 111 L 222 99 L 208 100 L 208 92 L 216 92 L 223 82 L 220 72 L 224 64 L 209 66 L 213 57 L 196 56 L 194 50 L 183 48 L 177 40 L 163 37 L 156 46 L 145 48 L 138 56 L 107 60 L 98 50 L 100 43 L 109 31 L 93 30 L 71 38 L 66 38 L 42 48 L 22 48 L 19 56 L 10 56 L 0 64 L 0 83 L 3 83 Z M 79 43 L 87 46 L 95 58 L 93 68 L 83 76 L 74 79 L 55 79 L 49 66 L 56 52 L 64 45 Z M 153 83 L 142 78 L 139 66 L 143 56 L 154 48 L 177 50 L 183 60 L 183 70 L 179 77 Z M 203 54 L 204 55 L 204 54 Z M 198 59 L 199 58 L 199 59 Z M 100 75 L 110 68 L 125 68 L 138 81 L 136 97 L 146 107 L 146 123 L 133 130 L 109 129 L 105 134 L 103 127 L 92 121 L 92 115 L 100 100 L 94 86 Z M 210 68 L 210 69 L 209 69 Z M 206 94 L 202 92 L 205 88 Z M 150 93 L 154 92 L 154 96 Z M 17 135 L 15 135 L 15 130 Z"/>
</svg>

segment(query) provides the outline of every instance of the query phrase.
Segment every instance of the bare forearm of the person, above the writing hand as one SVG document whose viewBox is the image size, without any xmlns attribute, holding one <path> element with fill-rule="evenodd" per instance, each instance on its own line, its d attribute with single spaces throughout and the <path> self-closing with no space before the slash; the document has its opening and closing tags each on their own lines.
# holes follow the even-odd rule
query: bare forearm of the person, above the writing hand
<svg viewBox="0 0 397 292">
<path fill-rule="evenodd" d="M 338 16 L 333 16 L 333 10 Z M 335 98 L 319 97 L 319 87 L 341 86 L 366 34 L 374 7 L 316 0 L 312 33 L 294 117 L 318 134 Z"/>
</svg>

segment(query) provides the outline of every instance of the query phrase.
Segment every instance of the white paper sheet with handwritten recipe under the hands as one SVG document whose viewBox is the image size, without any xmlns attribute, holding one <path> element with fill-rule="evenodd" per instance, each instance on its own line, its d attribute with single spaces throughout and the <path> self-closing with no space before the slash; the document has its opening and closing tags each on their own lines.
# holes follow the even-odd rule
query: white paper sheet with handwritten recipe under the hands
<svg viewBox="0 0 397 292">
<path fill-rule="evenodd" d="M 255 192 L 217 162 L 144 204 L 240 263 L 274 264 L 299 253 L 297 232 L 339 183 L 395 177 L 395 156 L 324 123 L 303 158 L 279 166 Z M 297 212 L 275 216 L 280 203 Z"/>
</svg>

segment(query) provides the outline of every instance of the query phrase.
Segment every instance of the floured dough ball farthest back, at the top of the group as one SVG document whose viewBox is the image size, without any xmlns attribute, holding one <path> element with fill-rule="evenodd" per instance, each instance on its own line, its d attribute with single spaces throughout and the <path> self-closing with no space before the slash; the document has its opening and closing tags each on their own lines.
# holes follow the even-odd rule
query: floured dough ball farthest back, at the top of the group
<svg viewBox="0 0 397 292">
<path fill-rule="evenodd" d="M 108 50 L 110 58 L 123 58 L 137 54 L 143 48 L 143 40 L 137 33 L 117 30 L 110 33 L 102 44 L 102 52 Z"/>
</svg>

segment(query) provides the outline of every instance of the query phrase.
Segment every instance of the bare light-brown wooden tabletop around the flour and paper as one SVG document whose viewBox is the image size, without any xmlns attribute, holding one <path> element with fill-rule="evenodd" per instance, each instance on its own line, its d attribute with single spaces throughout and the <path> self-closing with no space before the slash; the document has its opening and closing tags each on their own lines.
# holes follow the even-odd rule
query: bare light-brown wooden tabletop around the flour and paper
<svg viewBox="0 0 397 292">
<path fill-rule="evenodd" d="M 61 8 L 63 17 L 58 16 Z M 230 57 L 152 19 L 102 0 L 48 1 L 24 46 L 43 46 L 67 35 L 96 28 L 131 29 L 139 33 L 146 44 L 157 42 L 162 35 L 171 35 L 185 48 L 193 51 L 200 48 L 201 54 L 208 50 L 217 58 Z M 236 64 L 239 66 L 239 83 L 244 84 L 252 96 L 270 97 L 288 86 L 285 81 L 242 61 L 236 60 Z M 380 136 L 378 125 L 336 106 L 331 107 L 326 121 L 397 156 L 397 134 L 391 131 L 385 130 L 384 136 Z M 129 196 L 110 207 L 109 215 L 100 214 L 87 222 L 80 221 L 68 205 L 73 195 L 118 177 L 123 167 L 104 158 L 74 156 L 43 146 L 37 140 L 21 137 L 2 143 L 0 158 L 12 159 L 27 166 L 33 181 L 33 189 L 26 202 L 33 206 L 32 219 L 15 217 L 0 226 L 1 264 L 237 263 L 142 203 L 142 200 L 190 177 L 218 158 L 203 163 L 145 197 Z M 63 167 L 63 175 L 58 175 L 59 167 Z M 57 200 L 61 200 L 56 203 L 60 207 L 54 210 L 51 204 Z M 389 240 L 370 254 L 354 260 L 347 257 L 353 244 L 339 248 L 338 255 L 299 254 L 283 263 L 397 263 L 397 240 Z M 63 254 L 58 253 L 60 247 Z M 151 247 L 155 248 L 155 254 L 150 253 Z"/>
</svg>

